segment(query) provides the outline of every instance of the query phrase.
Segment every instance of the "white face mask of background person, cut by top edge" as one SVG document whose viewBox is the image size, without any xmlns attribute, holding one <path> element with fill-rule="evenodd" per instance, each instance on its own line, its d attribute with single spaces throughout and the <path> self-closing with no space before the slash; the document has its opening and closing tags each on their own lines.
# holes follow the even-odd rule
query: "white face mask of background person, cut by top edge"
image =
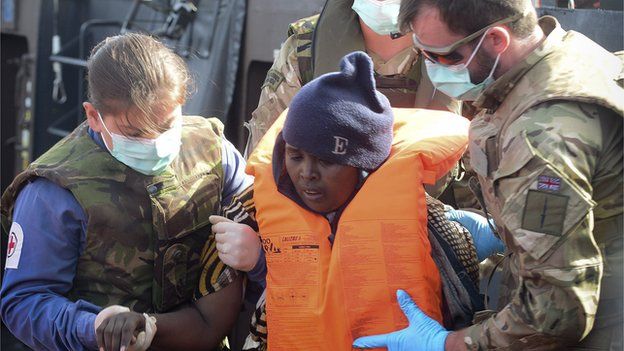
<svg viewBox="0 0 624 351">
<path fill-rule="evenodd" d="M 401 0 L 355 0 L 351 8 L 375 33 L 388 35 L 399 32 Z"/>
</svg>

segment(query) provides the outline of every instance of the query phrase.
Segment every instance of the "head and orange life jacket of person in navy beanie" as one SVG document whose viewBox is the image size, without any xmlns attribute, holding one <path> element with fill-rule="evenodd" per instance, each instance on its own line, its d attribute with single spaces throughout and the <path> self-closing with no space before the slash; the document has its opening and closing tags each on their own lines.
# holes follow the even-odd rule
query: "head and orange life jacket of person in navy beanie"
<svg viewBox="0 0 624 351">
<path fill-rule="evenodd" d="M 418 184 L 459 159 L 467 126 L 450 113 L 393 111 L 361 52 L 301 89 L 247 169 L 268 268 L 269 349 L 351 350 L 359 336 L 405 327 L 400 286 L 442 320 Z"/>
</svg>

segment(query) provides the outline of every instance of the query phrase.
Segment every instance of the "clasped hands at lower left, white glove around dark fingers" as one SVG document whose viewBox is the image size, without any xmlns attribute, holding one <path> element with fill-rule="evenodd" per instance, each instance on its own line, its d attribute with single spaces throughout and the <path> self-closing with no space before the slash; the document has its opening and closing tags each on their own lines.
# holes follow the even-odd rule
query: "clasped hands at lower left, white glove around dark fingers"
<svg viewBox="0 0 624 351">
<path fill-rule="evenodd" d="M 107 309 L 111 311 L 103 314 Z M 151 345 L 157 330 L 156 318 L 130 312 L 122 306 L 110 306 L 102 312 L 95 322 L 100 351 L 144 351 Z M 98 320 L 101 314 L 103 316 Z"/>
</svg>

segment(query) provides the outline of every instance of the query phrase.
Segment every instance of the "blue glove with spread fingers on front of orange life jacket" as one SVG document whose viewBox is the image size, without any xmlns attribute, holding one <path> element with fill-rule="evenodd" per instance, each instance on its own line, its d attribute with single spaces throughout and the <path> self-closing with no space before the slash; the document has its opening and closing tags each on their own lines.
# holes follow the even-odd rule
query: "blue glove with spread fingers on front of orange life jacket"
<svg viewBox="0 0 624 351">
<path fill-rule="evenodd" d="M 450 332 L 424 314 L 405 291 L 397 290 L 397 300 L 409 326 L 394 333 L 357 338 L 353 347 L 385 347 L 389 351 L 444 351 L 446 336 Z"/>
</svg>

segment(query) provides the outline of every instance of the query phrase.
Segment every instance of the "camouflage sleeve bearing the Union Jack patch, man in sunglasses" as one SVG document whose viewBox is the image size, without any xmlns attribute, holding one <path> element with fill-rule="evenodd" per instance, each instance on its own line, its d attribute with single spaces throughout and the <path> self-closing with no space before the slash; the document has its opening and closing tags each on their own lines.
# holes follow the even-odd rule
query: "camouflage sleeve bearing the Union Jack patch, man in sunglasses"
<svg viewBox="0 0 624 351">
<path fill-rule="evenodd" d="M 591 330 L 603 271 L 592 233 L 603 128 L 595 111 L 542 104 L 502 136 L 492 178 L 513 288 L 497 314 L 465 330 L 469 350 L 561 349 Z"/>
</svg>

